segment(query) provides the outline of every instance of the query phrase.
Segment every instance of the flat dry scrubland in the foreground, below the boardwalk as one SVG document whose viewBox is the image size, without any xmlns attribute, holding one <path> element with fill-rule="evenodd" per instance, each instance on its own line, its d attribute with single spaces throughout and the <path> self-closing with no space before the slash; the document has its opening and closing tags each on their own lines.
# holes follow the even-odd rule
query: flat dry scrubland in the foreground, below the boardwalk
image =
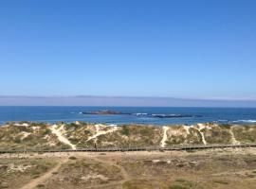
<svg viewBox="0 0 256 189">
<path fill-rule="evenodd" d="M 256 150 L 2 154 L 0 169 L 9 189 L 254 189 Z"/>
</svg>

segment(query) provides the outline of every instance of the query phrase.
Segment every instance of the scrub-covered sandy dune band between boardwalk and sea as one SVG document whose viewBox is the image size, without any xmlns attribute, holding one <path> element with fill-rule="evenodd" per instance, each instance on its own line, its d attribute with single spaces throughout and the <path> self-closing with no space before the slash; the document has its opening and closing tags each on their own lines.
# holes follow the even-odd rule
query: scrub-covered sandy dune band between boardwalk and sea
<svg viewBox="0 0 256 189">
<path fill-rule="evenodd" d="M 256 143 L 253 125 L 106 126 L 76 122 L 9 123 L 0 127 L 0 148 L 82 148 Z"/>
</svg>

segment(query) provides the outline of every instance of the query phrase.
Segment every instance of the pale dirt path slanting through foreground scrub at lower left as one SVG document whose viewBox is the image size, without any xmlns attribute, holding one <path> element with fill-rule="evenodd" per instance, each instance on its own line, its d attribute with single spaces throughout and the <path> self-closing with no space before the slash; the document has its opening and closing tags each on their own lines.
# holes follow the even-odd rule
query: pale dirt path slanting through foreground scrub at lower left
<svg viewBox="0 0 256 189">
<path fill-rule="evenodd" d="M 57 172 L 59 170 L 59 168 L 62 166 L 62 164 L 66 163 L 67 161 L 68 161 L 67 158 L 60 159 L 59 163 L 55 167 L 53 167 L 52 169 L 48 170 L 41 177 L 39 177 L 39 178 L 37 178 L 35 180 L 31 180 L 25 186 L 23 186 L 21 189 L 34 189 L 34 188 L 36 188 L 36 186 L 38 184 L 44 183 L 44 181 L 46 181 L 47 179 L 51 178 L 52 177 L 52 173 L 53 172 Z"/>
</svg>

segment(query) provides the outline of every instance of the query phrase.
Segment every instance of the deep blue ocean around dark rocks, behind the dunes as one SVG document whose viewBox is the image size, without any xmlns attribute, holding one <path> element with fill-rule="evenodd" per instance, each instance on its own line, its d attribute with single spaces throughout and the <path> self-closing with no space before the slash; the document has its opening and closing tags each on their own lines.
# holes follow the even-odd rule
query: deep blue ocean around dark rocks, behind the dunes
<svg viewBox="0 0 256 189">
<path fill-rule="evenodd" d="M 109 110 L 129 114 L 82 114 Z M 152 115 L 184 115 L 177 117 L 153 117 Z M 189 116 L 187 116 L 189 115 Z M 101 124 L 196 124 L 231 123 L 256 124 L 256 109 L 248 108 L 149 108 L 149 107 L 0 107 L 0 124 L 16 121 L 67 123 L 83 121 Z"/>
</svg>

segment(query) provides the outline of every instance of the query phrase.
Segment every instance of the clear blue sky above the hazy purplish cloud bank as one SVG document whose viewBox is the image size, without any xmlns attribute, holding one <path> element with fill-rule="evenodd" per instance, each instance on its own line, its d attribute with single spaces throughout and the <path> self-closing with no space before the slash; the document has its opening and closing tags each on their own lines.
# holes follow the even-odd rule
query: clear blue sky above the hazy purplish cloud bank
<svg viewBox="0 0 256 189">
<path fill-rule="evenodd" d="M 0 71 L 0 95 L 256 99 L 256 1 L 1 1 Z"/>
</svg>

